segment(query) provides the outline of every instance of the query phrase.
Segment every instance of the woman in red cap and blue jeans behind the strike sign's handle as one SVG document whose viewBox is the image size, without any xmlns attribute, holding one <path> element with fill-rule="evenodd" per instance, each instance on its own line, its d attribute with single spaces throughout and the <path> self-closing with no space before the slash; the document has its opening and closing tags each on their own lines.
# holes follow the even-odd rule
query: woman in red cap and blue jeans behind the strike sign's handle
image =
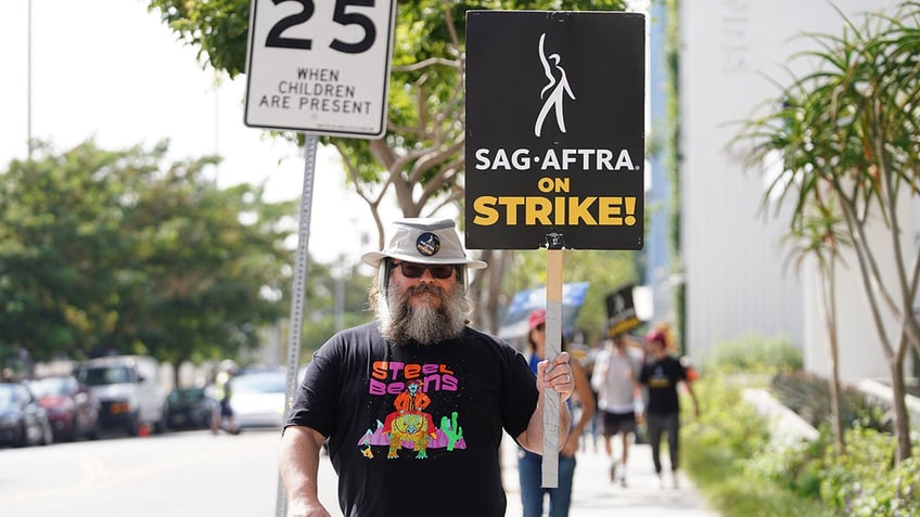
<svg viewBox="0 0 920 517">
<path fill-rule="evenodd" d="M 537 365 L 546 359 L 546 310 L 536 309 L 528 316 L 529 331 L 527 342 L 531 347 L 531 370 L 536 372 Z M 566 348 L 566 339 L 562 336 L 562 350 Z M 518 475 L 521 481 L 521 503 L 524 517 L 540 517 L 544 515 L 544 499 L 549 495 L 549 517 L 565 517 L 572 504 L 572 480 L 575 476 L 575 453 L 582 434 L 595 417 L 595 398 L 591 393 L 588 376 L 578 361 L 572 361 L 572 376 L 575 379 L 575 395 L 582 403 L 578 422 L 568 431 L 568 438 L 559 453 L 559 486 L 542 488 L 542 456 L 524 449 L 518 451 Z M 572 399 L 570 399 L 570 402 Z M 570 408 L 571 411 L 571 408 Z"/>
</svg>

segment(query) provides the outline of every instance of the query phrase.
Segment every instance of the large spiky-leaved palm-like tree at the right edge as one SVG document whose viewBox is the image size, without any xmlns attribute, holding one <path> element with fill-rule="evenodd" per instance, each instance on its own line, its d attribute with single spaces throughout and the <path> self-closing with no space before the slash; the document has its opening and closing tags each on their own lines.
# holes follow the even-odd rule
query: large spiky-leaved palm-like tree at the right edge
<svg viewBox="0 0 920 517">
<path fill-rule="evenodd" d="M 768 197 L 793 203 L 791 233 L 822 208 L 840 208 L 891 374 L 900 462 L 910 456 L 904 362 L 910 347 L 920 350 L 912 311 L 920 253 L 906 246 L 897 210 L 898 202 L 920 194 L 920 2 L 905 2 L 891 16 L 866 14 L 858 26 L 840 14 L 841 36 L 806 35 L 818 50 L 798 57 L 818 63 L 817 69 L 793 75 L 766 104 L 768 113 L 745 122 L 733 143 L 751 144 L 749 165 L 781 156 L 783 172 L 769 184 Z M 882 263 L 880 237 L 891 264 Z M 883 270 L 894 274 L 882 276 Z M 883 311 L 897 328 L 884 325 Z"/>
</svg>

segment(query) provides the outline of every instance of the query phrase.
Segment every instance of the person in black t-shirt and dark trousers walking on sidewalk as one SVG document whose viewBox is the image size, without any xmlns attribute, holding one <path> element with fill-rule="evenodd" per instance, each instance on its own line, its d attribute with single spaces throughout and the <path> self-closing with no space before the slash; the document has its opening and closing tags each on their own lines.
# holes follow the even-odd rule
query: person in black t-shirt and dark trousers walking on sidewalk
<svg viewBox="0 0 920 517">
<path fill-rule="evenodd" d="M 667 434 L 667 447 L 670 455 L 670 473 L 674 488 L 678 488 L 677 469 L 680 466 L 680 399 L 678 383 L 682 383 L 693 401 L 694 415 L 700 414 L 700 405 L 689 383 L 687 369 L 670 354 L 666 327 L 657 327 L 646 335 L 648 354 L 639 382 L 648 389 L 646 423 L 649 443 L 652 445 L 652 462 L 655 473 L 664 488 L 661 464 L 661 438 Z"/>
</svg>

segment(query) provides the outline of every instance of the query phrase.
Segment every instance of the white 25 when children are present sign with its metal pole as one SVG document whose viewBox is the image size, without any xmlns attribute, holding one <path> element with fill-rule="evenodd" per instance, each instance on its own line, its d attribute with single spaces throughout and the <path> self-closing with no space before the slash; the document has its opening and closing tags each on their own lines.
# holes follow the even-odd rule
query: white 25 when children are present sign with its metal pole
<svg viewBox="0 0 920 517">
<path fill-rule="evenodd" d="M 304 191 L 288 346 L 286 409 L 297 389 L 301 357 L 301 324 L 309 267 L 308 243 L 310 204 L 318 137 L 379 139 L 386 133 L 386 106 L 389 92 L 389 65 L 396 26 L 396 0 L 381 2 L 302 2 L 308 10 L 290 14 L 278 0 L 252 0 L 250 37 L 246 46 L 246 100 L 243 122 L 250 127 L 281 131 L 304 131 Z M 348 5 L 348 4 L 352 5 Z M 316 9 L 314 9 L 316 8 Z M 350 11 L 355 8 L 355 11 Z M 347 13 L 345 9 L 349 9 Z M 258 12 L 258 16 L 256 13 Z M 350 27 L 350 26 L 357 27 Z M 291 29 L 291 34 L 285 33 Z M 282 33 L 284 37 L 280 37 Z M 319 93 L 286 88 L 301 74 L 321 70 L 319 81 L 310 86 L 350 89 L 354 99 L 336 98 L 336 88 Z M 378 74 L 379 73 L 379 74 Z M 306 89 L 307 82 L 297 82 Z M 329 91 L 332 90 L 330 93 Z M 323 111 L 327 102 L 347 101 L 361 109 Z M 279 476 L 277 516 L 286 513 L 288 499 Z"/>
</svg>

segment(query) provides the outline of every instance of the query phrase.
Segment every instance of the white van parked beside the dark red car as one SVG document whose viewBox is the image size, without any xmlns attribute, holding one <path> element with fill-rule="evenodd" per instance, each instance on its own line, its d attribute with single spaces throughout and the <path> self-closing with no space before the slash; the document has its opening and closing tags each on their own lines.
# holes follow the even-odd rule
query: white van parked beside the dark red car
<svg viewBox="0 0 920 517">
<path fill-rule="evenodd" d="M 166 390 L 159 363 L 146 356 L 91 359 L 76 370 L 77 380 L 102 401 L 102 427 L 138 436 L 166 428 Z"/>
</svg>

